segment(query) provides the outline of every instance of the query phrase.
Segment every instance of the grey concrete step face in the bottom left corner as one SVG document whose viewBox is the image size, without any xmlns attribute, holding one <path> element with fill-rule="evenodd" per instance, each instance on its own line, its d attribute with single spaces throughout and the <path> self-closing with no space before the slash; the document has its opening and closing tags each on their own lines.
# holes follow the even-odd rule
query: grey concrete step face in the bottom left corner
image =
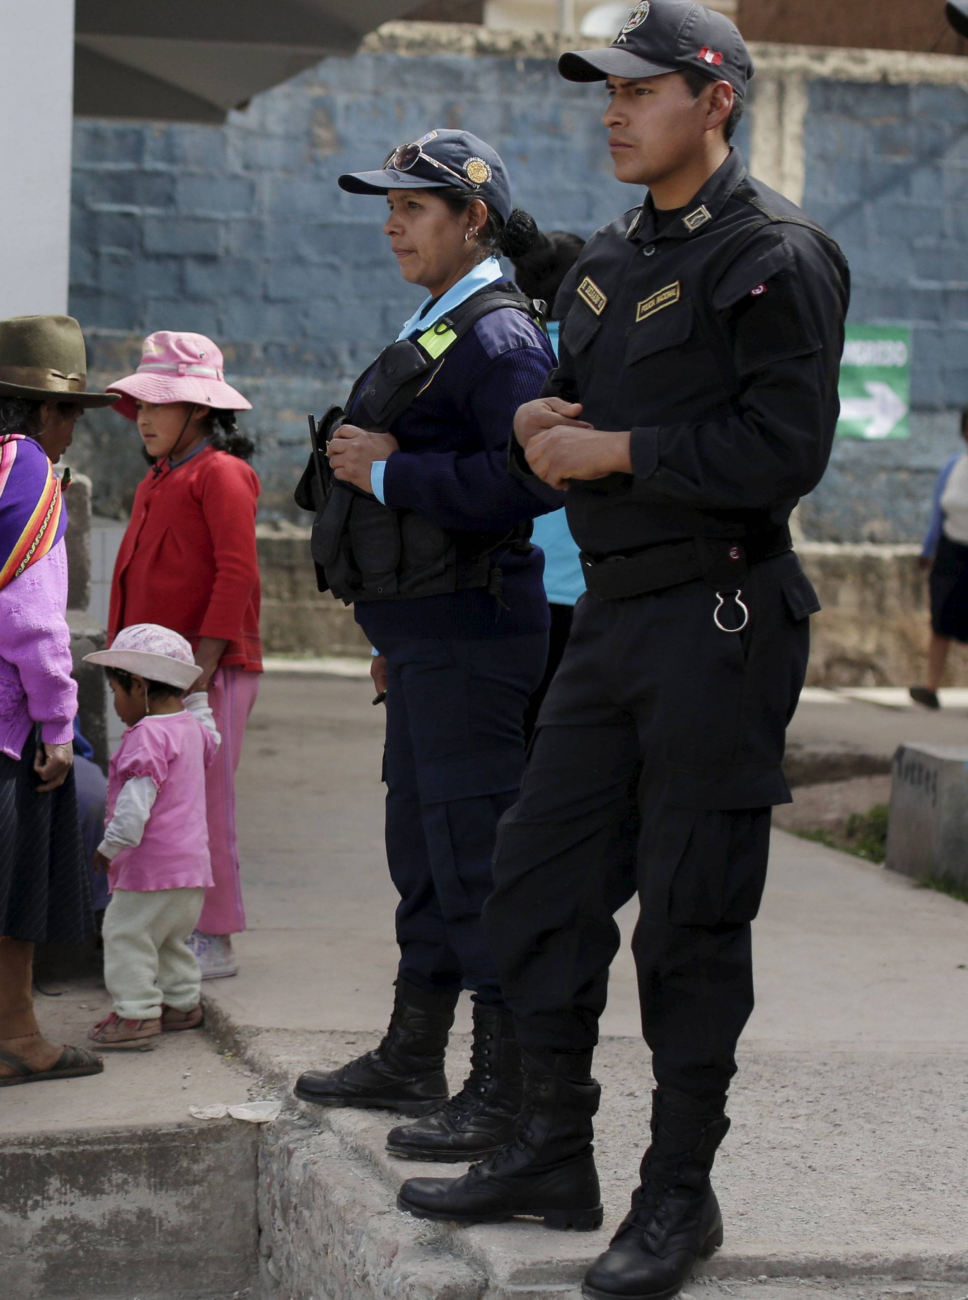
<svg viewBox="0 0 968 1300">
<path fill-rule="evenodd" d="M 248 1296 L 257 1143 L 233 1121 L 4 1138 L 0 1295 Z"/>
</svg>

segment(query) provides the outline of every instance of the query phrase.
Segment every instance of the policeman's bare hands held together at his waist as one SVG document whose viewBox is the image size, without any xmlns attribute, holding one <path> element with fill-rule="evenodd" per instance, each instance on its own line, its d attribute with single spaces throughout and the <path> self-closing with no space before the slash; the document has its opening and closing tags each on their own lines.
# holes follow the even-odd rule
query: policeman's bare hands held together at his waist
<svg viewBox="0 0 968 1300">
<path fill-rule="evenodd" d="M 515 437 L 528 464 L 551 488 L 568 488 L 570 478 L 631 473 L 631 434 L 594 429 L 581 413 L 578 402 L 538 398 L 515 416 Z"/>
</svg>

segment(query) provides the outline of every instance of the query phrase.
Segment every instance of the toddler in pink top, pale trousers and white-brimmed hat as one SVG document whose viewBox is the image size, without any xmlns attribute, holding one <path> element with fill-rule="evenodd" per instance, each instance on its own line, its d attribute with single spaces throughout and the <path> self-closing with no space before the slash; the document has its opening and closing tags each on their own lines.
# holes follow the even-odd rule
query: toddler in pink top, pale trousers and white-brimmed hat
<svg viewBox="0 0 968 1300">
<path fill-rule="evenodd" d="M 125 628 L 110 650 L 84 659 L 105 666 L 127 724 L 108 770 L 108 824 L 95 855 L 112 887 L 103 933 L 114 1010 L 88 1037 L 134 1048 L 201 1024 L 201 975 L 187 940 L 212 884 L 204 779 L 220 737 L 204 692 L 182 703 L 201 670 L 170 628 Z"/>
</svg>

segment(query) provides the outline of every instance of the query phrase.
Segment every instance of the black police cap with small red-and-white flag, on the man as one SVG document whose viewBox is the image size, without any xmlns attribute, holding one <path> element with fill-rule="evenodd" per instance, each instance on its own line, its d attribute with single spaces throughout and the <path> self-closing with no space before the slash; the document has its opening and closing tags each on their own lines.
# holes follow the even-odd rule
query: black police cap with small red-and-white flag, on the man
<svg viewBox="0 0 968 1300">
<path fill-rule="evenodd" d="M 709 81 L 728 81 L 746 95 L 754 74 L 746 42 L 725 14 L 689 0 L 642 0 L 622 30 L 604 49 L 578 49 L 561 55 L 557 70 L 567 81 L 604 81 L 607 77 L 660 77 L 686 68 Z"/>
</svg>

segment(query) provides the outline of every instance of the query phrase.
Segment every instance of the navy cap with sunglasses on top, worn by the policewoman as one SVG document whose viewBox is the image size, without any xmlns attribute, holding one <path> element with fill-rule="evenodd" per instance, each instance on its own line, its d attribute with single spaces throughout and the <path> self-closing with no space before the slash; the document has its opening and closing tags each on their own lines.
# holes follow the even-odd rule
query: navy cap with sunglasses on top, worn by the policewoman
<svg viewBox="0 0 968 1300">
<path fill-rule="evenodd" d="M 511 181 L 496 150 L 470 131 L 439 127 L 394 150 L 379 172 L 344 172 L 340 190 L 387 194 L 390 190 L 468 190 L 498 213 L 511 216 Z"/>
</svg>

